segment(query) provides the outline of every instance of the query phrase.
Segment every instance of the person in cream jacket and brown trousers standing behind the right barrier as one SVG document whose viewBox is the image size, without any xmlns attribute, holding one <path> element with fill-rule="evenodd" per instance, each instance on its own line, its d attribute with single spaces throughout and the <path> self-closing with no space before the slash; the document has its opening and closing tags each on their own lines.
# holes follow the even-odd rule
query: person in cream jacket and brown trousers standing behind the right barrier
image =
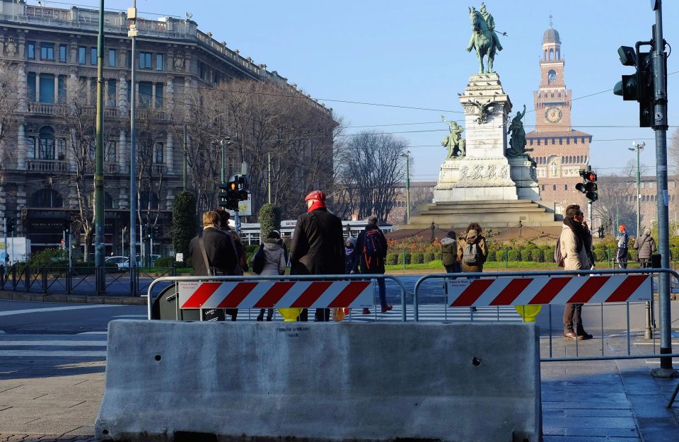
<svg viewBox="0 0 679 442">
<path fill-rule="evenodd" d="M 559 247 L 564 257 L 564 270 L 588 270 L 592 268 L 590 254 L 592 235 L 587 228 L 584 214 L 577 204 L 571 204 L 564 214 L 564 226 L 559 236 Z M 582 304 L 569 303 L 564 308 L 564 339 L 592 339 L 582 325 Z"/>
</svg>

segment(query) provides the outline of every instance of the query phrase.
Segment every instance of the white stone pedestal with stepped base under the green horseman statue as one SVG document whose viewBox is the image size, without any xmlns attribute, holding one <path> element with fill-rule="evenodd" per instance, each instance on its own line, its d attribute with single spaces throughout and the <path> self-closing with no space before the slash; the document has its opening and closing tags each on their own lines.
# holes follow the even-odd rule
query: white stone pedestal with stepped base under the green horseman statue
<svg viewBox="0 0 679 442">
<path fill-rule="evenodd" d="M 508 155 L 511 101 L 498 74 L 470 77 L 460 94 L 465 110 L 466 153 L 441 165 L 434 201 L 423 204 L 403 228 L 559 226 L 540 201 L 535 163 L 526 153 Z M 452 130 L 452 129 L 451 129 Z"/>
</svg>

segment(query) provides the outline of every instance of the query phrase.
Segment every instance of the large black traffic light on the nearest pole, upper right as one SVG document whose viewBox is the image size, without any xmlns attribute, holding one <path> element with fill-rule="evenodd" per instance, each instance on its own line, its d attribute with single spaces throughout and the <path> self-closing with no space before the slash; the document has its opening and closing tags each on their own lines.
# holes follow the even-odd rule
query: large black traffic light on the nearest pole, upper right
<svg viewBox="0 0 679 442">
<path fill-rule="evenodd" d="M 623 66 L 635 66 L 637 71 L 632 75 L 623 75 L 613 88 L 615 95 L 623 100 L 639 102 L 639 127 L 653 127 L 654 114 L 654 71 L 651 52 L 639 52 L 633 47 L 621 46 L 617 50 Z"/>
</svg>

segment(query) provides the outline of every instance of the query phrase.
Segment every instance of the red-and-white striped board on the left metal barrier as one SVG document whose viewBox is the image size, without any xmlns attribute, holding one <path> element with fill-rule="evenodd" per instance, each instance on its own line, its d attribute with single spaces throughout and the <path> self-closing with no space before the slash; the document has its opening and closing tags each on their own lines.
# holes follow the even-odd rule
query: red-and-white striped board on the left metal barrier
<svg viewBox="0 0 679 442">
<path fill-rule="evenodd" d="M 371 281 L 180 282 L 180 308 L 371 308 Z"/>
</svg>

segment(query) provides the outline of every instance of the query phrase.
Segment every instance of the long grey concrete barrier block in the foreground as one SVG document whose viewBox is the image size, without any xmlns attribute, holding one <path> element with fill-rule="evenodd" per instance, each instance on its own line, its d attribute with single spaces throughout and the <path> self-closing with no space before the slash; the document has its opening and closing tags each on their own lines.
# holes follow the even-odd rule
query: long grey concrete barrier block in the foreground
<svg viewBox="0 0 679 442">
<path fill-rule="evenodd" d="M 115 320 L 108 333 L 99 441 L 541 440 L 530 323 Z"/>
</svg>

